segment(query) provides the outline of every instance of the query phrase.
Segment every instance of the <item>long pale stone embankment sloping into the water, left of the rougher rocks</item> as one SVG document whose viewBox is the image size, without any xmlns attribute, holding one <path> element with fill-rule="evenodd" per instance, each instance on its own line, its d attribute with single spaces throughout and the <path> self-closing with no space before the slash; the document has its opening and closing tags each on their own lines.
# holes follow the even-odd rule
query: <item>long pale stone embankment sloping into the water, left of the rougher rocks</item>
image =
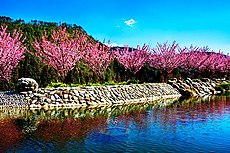
<svg viewBox="0 0 230 153">
<path fill-rule="evenodd" d="M 124 105 L 181 96 L 166 83 L 39 88 L 20 95 L 30 108 Z"/>
</svg>

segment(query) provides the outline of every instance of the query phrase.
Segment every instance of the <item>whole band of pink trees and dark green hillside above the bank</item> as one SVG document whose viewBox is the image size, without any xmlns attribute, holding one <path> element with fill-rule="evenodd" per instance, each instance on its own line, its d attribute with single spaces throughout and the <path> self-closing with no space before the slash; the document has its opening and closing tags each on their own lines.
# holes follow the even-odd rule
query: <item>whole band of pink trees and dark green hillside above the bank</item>
<svg viewBox="0 0 230 153">
<path fill-rule="evenodd" d="M 51 82 L 75 84 L 123 82 L 160 82 L 170 77 L 200 78 L 229 77 L 230 58 L 222 53 L 212 52 L 207 47 L 180 48 L 176 42 L 157 44 L 155 48 L 144 45 L 135 49 L 129 47 L 110 47 L 88 36 L 84 29 L 75 24 L 54 23 L 32 20 L 12 20 L 0 17 L 1 29 L 5 28 L 5 37 L 11 41 L 17 31 L 22 34 L 21 49 L 23 57 L 17 58 L 16 67 L 4 66 L 6 59 L 0 56 L 0 71 L 13 73 L 0 77 L 0 90 L 15 88 L 15 82 L 21 77 L 35 79 L 41 87 Z M 18 36 L 19 38 L 19 36 Z M 4 46 L 2 36 L 2 46 Z M 12 40 L 13 41 L 13 40 Z M 18 40 L 19 41 L 19 40 Z M 1 47 L 1 46 L 0 46 Z M 6 48 L 6 47 L 5 47 Z M 10 55 L 12 50 L 8 46 Z M 18 53 L 18 51 L 16 51 Z M 16 55 L 15 55 L 16 57 Z M 8 59 L 14 61 L 14 58 Z M 17 63 L 17 61 L 15 61 Z M 7 67 L 8 69 L 6 69 Z"/>
</svg>

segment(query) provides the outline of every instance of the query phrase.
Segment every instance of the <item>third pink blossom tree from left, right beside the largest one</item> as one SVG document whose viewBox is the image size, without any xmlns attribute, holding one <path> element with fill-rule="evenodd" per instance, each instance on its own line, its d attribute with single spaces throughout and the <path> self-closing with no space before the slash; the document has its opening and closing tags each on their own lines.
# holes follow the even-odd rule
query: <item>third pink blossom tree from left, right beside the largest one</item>
<svg viewBox="0 0 230 153">
<path fill-rule="evenodd" d="M 109 46 L 91 41 L 83 52 L 82 58 L 97 76 L 101 76 L 113 61 L 114 56 Z"/>
</svg>

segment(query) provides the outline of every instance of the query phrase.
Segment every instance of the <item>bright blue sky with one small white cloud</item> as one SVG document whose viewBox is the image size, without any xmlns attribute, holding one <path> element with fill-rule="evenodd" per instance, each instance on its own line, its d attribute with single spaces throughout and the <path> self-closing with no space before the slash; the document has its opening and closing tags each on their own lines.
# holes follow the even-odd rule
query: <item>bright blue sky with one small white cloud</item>
<svg viewBox="0 0 230 153">
<path fill-rule="evenodd" d="M 111 43 L 209 46 L 230 53 L 229 0 L 1 0 L 0 15 L 66 22 Z"/>
</svg>

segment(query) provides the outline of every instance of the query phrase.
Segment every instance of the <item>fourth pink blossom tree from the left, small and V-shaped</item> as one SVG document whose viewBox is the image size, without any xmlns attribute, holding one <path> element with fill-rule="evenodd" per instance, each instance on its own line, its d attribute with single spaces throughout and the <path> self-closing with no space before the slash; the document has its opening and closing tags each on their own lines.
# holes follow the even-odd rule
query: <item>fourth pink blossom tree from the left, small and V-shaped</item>
<svg viewBox="0 0 230 153">
<path fill-rule="evenodd" d="M 123 49 L 117 48 L 113 52 L 120 64 L 133 74 L 136 74 L 146 64 L 149 57 L 148 50 L 148 46 L 143 45 L 142 48 L 137 46 L 136 49 L 129 48 L 128 46 Z"/>
</svg>

